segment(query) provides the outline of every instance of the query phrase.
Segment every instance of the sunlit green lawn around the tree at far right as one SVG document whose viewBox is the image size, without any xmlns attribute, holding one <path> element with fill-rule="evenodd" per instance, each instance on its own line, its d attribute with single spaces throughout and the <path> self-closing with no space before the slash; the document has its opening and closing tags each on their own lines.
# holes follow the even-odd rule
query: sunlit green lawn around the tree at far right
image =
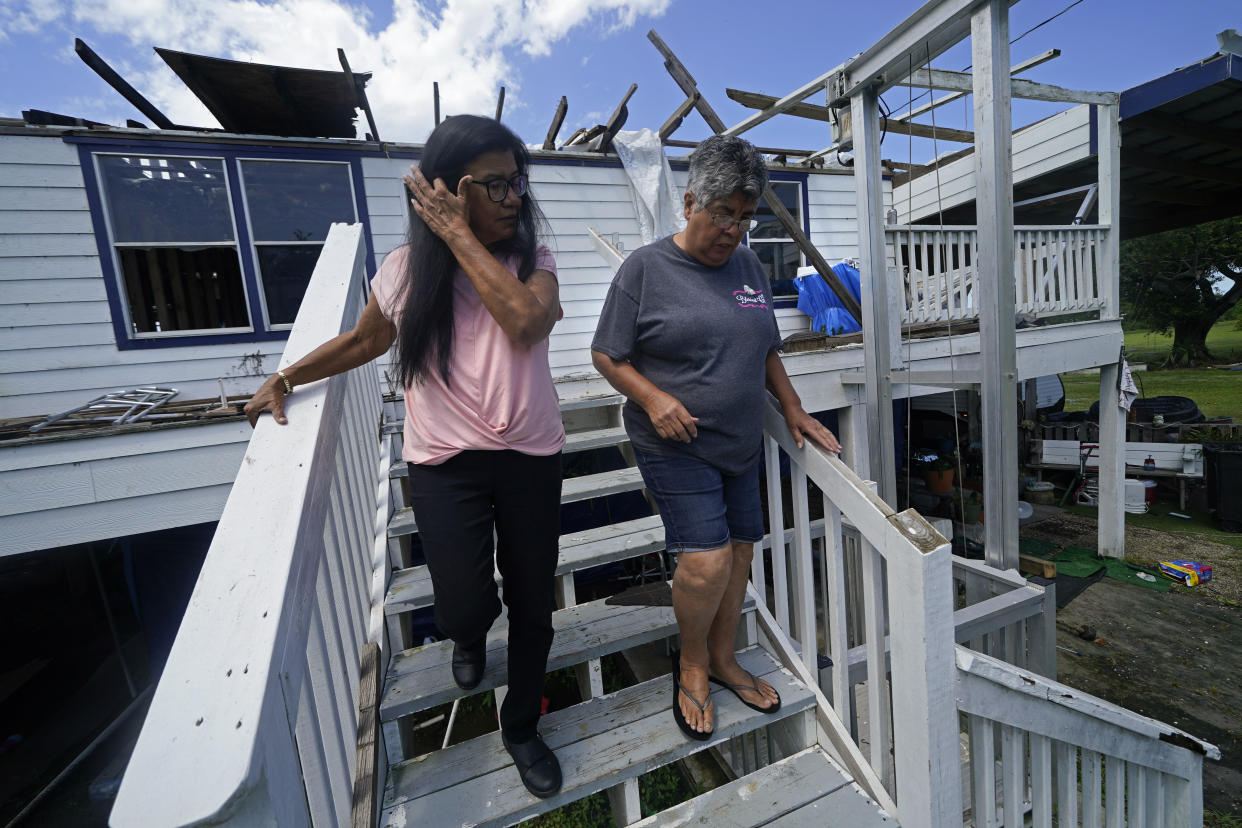
<svg viewBox="0 0 1242 828">
<path fill-rule="evenodd" d="M 1139 392 L 1145 397 L 1190 397 L 1207 417 L 1235 417 L 1242 421 L 1242 371 L 1220 369 L 1156 370 L 1167 356 L 1172 336 L 1145 330 L 1126 331 L 1125 351 L 1131 365 L 1146 364 L 1136 371 Z M 1242 361 L 1242 330 L 1233 322 L 1217 324 L 1207 335 L 1207 349 L 1223 362 Z M 1066 411 L 1083 411 L 1099 398 L 1099 376 L 1063 374 Z"/>
</svg>

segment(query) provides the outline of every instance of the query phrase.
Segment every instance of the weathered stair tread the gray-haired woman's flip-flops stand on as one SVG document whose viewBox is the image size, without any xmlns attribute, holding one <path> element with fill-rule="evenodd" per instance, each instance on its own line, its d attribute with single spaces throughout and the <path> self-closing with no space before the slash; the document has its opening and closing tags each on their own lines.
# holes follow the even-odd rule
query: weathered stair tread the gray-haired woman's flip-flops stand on
<svg viewBox="0 0 1242 828">
<path fill-rule="evenodd" d="M 491 732 L 392 766 L 380 824 L 512 824 L 815 705 L 811 691 L 763 649 L 743 650 L 738 660 L 781 694 L 777 714 L 750 710 L 713 685 L 715 736 L 705 742 L 688 740 L 673 724 L 672 679 L 664 674 L 543 718 L 540 734 L 556 751 L 565 777 L 555 797 L 538 799 L 528 793 L 501 735 Z M 837 787 L 845 783 L 835 782 Z"/>
</svg>

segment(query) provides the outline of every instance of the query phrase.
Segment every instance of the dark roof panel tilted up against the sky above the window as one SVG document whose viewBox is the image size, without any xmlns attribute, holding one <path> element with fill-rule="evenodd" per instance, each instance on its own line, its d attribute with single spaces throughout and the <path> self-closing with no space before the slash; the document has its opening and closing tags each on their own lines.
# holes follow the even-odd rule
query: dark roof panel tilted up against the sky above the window
<svg viewBox="0 0 1242 828">
<path fill-rule="evenodd" d="M 225 132 L 355 138 L 359 89 L 370 72 L 329 72 L 155 50 Z M 356 84 L 356 86 L 355 86 Z"/>
</svg>

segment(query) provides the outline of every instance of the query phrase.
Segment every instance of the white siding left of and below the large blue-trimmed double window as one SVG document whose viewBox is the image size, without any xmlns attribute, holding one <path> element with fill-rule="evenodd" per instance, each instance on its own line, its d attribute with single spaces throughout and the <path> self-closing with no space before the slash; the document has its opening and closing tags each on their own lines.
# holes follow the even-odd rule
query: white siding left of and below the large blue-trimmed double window
<svg viewBox="0 0 1242 828">
<path fill-rule="evenodd" d="M 119 350 L 77 149 L 0 135 L 0 418 L 56 413 L 118 389 L 253 391 L 284 343 Z"/>
</svg>

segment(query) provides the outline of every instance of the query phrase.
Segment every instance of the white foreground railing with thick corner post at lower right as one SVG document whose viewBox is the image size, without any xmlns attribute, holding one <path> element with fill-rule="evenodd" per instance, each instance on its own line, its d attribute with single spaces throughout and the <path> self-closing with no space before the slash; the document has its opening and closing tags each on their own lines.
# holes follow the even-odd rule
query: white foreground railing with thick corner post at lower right
<svg viewBox="0 0 1242 828">
<path fill-rule="evenodd" d="M 1128 824 L 1200 824 L 1202 757 L 1218 751 L 1046 678 L 1056 675 L 1051 588 L 950 555 L 918 513 L 894 511 L 817 447 L 796 448 L 773 400 L 765 449 L 769 546 L 786 540 L 770 577 L 755 559 L 760 624 L 785 665 L 821 690 L 821 740 L 904 828 L 1022 826 L 1027 813 L 1051 827 L 1053 807 L 1056 824 L 1077 826 L 1079 785 L 1083 826 L 1119 813 Z M 816 520 L 809 483 L 822 497 Z M 818 667 L 820 653 L 831 667 Z"/>
</svg>

